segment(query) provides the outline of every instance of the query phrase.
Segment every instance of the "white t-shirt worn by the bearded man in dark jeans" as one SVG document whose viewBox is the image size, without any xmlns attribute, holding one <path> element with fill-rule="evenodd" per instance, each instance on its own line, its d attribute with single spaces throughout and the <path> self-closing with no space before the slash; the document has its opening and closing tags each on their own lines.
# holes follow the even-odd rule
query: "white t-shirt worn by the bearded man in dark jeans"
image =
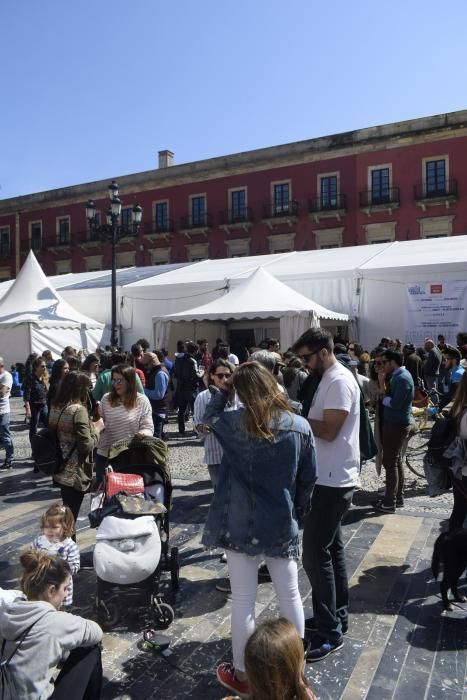
<svg viewBox="0 0 467 700">
<path fill-rule="evenodd" d="M 308 418 L 323 420 L 326 409 L 348 411 L 349 415 L 332 442 L 315 436 L 316 483 L 340 488 L 354 486 L 360 470 L 360 389 L 355 377 L 339 362 L 323 374 Z"/>
</svg>

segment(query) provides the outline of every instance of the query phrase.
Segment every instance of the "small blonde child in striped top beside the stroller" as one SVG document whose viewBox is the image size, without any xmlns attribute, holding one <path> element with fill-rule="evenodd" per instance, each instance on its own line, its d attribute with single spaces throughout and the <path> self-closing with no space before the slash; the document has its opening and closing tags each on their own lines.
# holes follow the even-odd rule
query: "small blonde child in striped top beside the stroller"
<svg viewBox="0 0 467 700">
<path fill-rule="evenodd" d="M 41 518 L 41 533 L 34 538 L 32 547 L 47 552 L 54 557 L 60 557 L 68 562 L 71 574 L 77 574 L 80 567 L 79 549 L 71 535 L 75 529 L 75 519 L 68 506 L 61 503 L 51 505 Z M 63 601 L 63 607 L 73 603 L 73 578 L 71 578 L 68 593 Z"/>
</svg>

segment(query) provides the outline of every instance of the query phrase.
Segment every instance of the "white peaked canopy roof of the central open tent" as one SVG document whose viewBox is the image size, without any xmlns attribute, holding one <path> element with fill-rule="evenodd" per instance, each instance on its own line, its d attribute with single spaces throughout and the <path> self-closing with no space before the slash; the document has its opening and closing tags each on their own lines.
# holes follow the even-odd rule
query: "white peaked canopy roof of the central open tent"
<svg viewBox="0 0 467 700">
<path fill-rule="evenodd" d="M 338 314 L 295 292 L 273 277 L 263 267 L 242 284 L 222 297 L 195 309 L 164 316 L 165 321 L 217 321 L 219 319 L 281 318 L 309 316 L 335 321 L 348 321 L 347 314 Z"/>
</svg>

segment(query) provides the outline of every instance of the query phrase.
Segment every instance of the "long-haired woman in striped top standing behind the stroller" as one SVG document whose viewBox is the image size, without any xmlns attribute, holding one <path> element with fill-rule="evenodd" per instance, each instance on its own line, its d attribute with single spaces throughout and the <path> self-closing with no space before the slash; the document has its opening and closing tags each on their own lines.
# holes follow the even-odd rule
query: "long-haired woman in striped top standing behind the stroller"
<svg viewBox="0 0 467 700">
<path fill-rule="evenodd" d="M 147 396 L 138 393 L 134 368 L 115 365 L 111 376 L 112 390 L 103 396 L 100 405 L 104 431 L 97 446 L 97 480 L 103 477 L 109 449 L 115 442 L 154 433 L 151 403 Z"/>
</svg>

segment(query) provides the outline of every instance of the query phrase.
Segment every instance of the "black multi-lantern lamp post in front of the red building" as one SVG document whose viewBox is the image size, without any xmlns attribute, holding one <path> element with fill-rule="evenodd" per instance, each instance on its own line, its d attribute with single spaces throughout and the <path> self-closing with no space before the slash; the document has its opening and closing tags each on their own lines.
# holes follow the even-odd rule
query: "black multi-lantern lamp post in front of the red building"
<svg viewBox="0 0 467 700">
<path fill-rule="evenodd" d="M 122 203 L 118 196 L 118 185 L 115 180 L 109 185 L 109 208 L 106 212 L 106 223 L 100 224 L 97 221 L 96 205 L 92 200 L 86 204 L 86 219 L 89 222 L 89 230 L 96 233 L 103 241 L 110 242 L 112 246 L 112 322 L 110 331 L 110 344 L 118 345 L 118 330 L 117 330 L 117 243 L 124 236 L 136 235 L 141 225 L 143 209 L 139 204 L 135 204 L 131 210 L 131 223 L 122 224 L 120 215 L 122 212 Z"/>
</svg>

